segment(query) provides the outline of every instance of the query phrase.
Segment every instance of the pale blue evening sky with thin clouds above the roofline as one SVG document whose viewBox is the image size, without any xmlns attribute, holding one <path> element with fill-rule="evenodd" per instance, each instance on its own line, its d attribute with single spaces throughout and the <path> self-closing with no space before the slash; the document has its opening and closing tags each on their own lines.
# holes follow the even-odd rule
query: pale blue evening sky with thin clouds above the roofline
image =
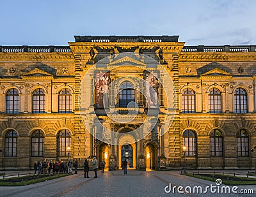
<svg viewBox="0 0 256 197">
<path fill-rule="evenodd" d="M 256 45 L 256 1 L 0 1 L 0 45 L 68 45 L 74 35 L 179 35 L 186 45 Z"/>
</svg>

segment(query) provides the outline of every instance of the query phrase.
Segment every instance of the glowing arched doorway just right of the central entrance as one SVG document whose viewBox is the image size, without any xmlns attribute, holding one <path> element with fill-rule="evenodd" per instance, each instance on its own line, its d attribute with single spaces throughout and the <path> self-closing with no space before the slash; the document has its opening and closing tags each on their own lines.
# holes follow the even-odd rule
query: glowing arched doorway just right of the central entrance
<svg viewBox="0 0 256 197">
<path fill-rule="evenodd" d="M 157 147 L 154 143 L 145 145 L 146 170 L 157 170 Z"/>
</svg>

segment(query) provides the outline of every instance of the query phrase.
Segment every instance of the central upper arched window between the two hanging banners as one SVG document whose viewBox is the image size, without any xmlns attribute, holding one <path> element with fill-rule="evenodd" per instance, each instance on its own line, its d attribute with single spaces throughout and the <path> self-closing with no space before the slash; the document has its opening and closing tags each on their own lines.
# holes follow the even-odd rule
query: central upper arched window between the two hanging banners
<svg viewBox="0 0 256 197">
<path fill-rule="evenodd" d="M 119 106 L 127 107 L 130 102 L 135 102 L 134 86 L 131 82 L 125 81 L 120 85 Z M 131 105 L 133 107 L 134 105 Z"/>
</svg>

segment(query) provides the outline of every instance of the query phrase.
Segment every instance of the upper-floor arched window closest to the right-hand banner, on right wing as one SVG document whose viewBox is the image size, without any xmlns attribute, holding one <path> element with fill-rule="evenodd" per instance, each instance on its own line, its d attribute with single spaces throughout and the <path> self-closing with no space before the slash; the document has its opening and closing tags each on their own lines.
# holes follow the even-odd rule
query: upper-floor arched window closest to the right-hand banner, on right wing
<svg viewBox="0 0 256 197">
<path fill-rule="evenodd" d="M 182 92 L 182 113 L 195 113 L 195 92 L 190 88 Z"/>
</svg>

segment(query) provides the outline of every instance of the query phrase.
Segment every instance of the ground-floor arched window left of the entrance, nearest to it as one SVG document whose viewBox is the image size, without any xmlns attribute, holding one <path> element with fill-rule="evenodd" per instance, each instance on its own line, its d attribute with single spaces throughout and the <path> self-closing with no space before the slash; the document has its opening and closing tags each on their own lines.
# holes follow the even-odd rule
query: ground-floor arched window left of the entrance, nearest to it
<svg viewBox="0 0 256 197">
<path fill-rule="evenodd" d="M 57 155 L 60 156 L 67 156 L 67 147 L 71 146 L 71 133 L 67 129 L 60 131 L 57 136 L 57 143 L 58 143 L 58 150 Z"/>
</svg>

